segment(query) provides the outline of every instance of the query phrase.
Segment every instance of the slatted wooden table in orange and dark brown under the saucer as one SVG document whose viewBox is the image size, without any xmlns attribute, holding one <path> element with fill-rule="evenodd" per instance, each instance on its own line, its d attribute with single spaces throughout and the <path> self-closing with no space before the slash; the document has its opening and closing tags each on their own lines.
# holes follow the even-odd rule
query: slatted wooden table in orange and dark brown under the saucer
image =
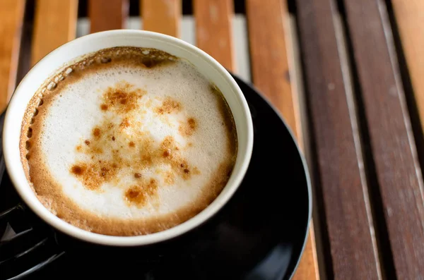
<svg viewBox="0 0 424 280">
<path fill-rule="evenodd" d="M 78 10 L 90 32 L 126 28 L 137 7 L 144 29 L 180 37 L 183 4 L 196 45 L 235 73 L 235 5 L 245 14 L 252 81 L 307 157 L 314 222 L 294 279 L 423 279 L 422 0 L 1 0 L 0 109 L 76 37 Z"/>
</svg>

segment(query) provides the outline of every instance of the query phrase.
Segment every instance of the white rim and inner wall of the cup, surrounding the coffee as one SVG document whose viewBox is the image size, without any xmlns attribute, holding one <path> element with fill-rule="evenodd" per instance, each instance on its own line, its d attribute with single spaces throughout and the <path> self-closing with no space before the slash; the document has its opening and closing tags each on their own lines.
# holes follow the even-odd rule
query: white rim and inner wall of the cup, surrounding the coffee
<svg viewBox="0 0 424 280">
<path fill-rule="evenodd" d="M 230 179 L 222 192 L 211 205 L 192 219 L 182 224 L 144 236 L 106 236 L 91 233 L 66 223 L 49 212 L 37 199 L 25 177 L 23 165 L 20 162 L 20 128 L 24 112 L 31 97 L 47 78 L 57 73 L 67 65 L 72 64 L 78 57 L 93 51 L 109 47 L 133 46 L 148 47 L 166 51 L 174 56 L 187 59 L 206 77 L 211 80 L 221 92 L 230 106 L 237 129 L 237 159 Z M 37 145 L 35 143 L 35 145 Z M 175 37 L 156 32 L 141 30 L 111 30 L 86 35 L 74 39 L 55 49 L 40 60 L 20 82 L 6 111 L 3 132 L 3 150 L 6 169 L 18 194 L 26 205 L 37 216 L 63 233 L 74 238 L 102 245 L 138 246 L 159 243 L 187 233 L 213 217 L 235 193 L 252 155 L 253 126 L 249 107 L 240 87 L 230 73 L 211 56 L 192 44 Z"/>
</svg>

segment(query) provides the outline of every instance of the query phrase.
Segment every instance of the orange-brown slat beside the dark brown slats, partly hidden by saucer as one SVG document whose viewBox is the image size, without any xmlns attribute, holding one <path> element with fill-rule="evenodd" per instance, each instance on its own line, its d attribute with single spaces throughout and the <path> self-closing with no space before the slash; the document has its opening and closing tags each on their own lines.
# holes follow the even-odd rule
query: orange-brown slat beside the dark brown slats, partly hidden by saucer
<svg viewBox="0 0 424 280">
<path fill-rule="evenodd" d="M 284 3 L 279 0 L 266 2 L 247 0 L 253 82 L 281 111 L 296 137 L 301 138 L 301 132 L 297 129 L 299 125 L 296 125 L 297 122 L 300 122 L 298 104 L 293 103 L 288 75 L 288 57 L 283 26 L 283 15 L 287 14 L 287 9 Z M 302 142 L 301 139 L 299 140 Z M 311 223 L 310 235 L 307 237 L 305 251 L 294 280 L 319 279 L 314 244 L 314 229 Z"/>
</svg>

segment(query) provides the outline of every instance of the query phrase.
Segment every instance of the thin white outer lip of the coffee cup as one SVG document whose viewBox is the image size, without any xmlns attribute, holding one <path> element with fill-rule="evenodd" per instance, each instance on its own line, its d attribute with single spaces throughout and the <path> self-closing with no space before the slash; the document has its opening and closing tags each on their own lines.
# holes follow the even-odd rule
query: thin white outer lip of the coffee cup
<svg viewBox="0 0 424 280">
<path fill-rule="evenodd" d="M 93 233 L 90 231 L 86 231 L 84 229 L 80 229 L 72 224 L 67 223 L 66 221 L 60 219 L 56 215 L 52 214 L 42 203 L 37 199 L 37 201 L 30 199 L 30 195 L 34 195 L 33 190 L 28 190 L 25 185 L 21 185 L 18 182 L 17 176 L 19 176 L 17 169 L 23 168 L 18 159 L 19 164 L 16 164 L 17 159 L 11 157 L 11 154 L 8 152 L 8 147 L 11 147 L 13 144 L 11 137 L 8 137 L 7 131 L 9 130 L 9 126 L 16 126 L 16 122 L 13 121 L 13 108 L 17 103 L 17 93 L 19 95 L 20 88 L 24 83 L 28 82 L 28 75 L 33 71 L 37 71 L 37 68 L 40 67 L 43 61 L 47 61 L 49 57 L 53 56 L 57 52 L 61 51 L 66 47 L 71 47 L 73 45 L 83 44 L 84 42 L 92 39 L 101 39 L 102 37 L 107 37 L 109 35 L 122 35 L 122 36 L 140 36 L 140 37 L 148 37 L 150 39 L 159 40 L 165 44 L 172 44 L 173 47 L 180 47 L 186 49 L 187 51 L 196 54 L 196 56 L 200 56 L 201 60 L 208 63 L 211 67 L 213 67 L 216 71 L 223 76 L 223 80 L 232 88 L 232 90 L 237 93 L 238 101 L 241 104 L 241 108 L 243 110 L 243 114 L 245 116 L 245 123 L 247 124 L 247 144 L 245 145 L 245 149 L 242 151 L 245 154 L 245 159 L 240 162 L 240 167 L 237 174 L 232 174 L 234 176 L 232 178 L 232 185 L 226 192 L 221 192 L 218 197 L 216 197 L 213 202 L 211 202 L 208 207 L 206 207 L 199 214 L 196 214 L 191 219 L 184 221 L 182 224 L 178 224 L 177 226 L 173 226 L 170 229 L 166 229 L 164 231 L 159 231 L 157 233 L 150 233 L 147 235 L 141 236 L 107 236 L 100 233 Z M 71 59 L 70 59 L 71 60 Z M 41 81 L 42 82 L 42 81 Z M 21 120 L 20 120 L 21 121 Z M 20 124 L 20 122 L 19 122 Z M 237 128 L 237 126 L 236 126 Z M 177 236 L 181 236 L 188 231 L 192 231 L 196 229 L 196 227 L 201 226 L 204 222 L 211 219 L 220 209 L 226 205 L 226 203 L 230 200 L 232 195 L 234 195 L 235 191 L 238 189 L 240 184 L 242 183 L 242 179 L 244 178 L 247 168 L 249 166 L 250 159 L 252 157 L 253 150 L 253 124 L 252 124 L 252 116 L 249 111 L 249 106 L 247 105 L 247 101 L 240 90 L 240 87 L 235 82 L 234 78 L 230 75 L 230 73 L 220 64 L 216 59 L 213 59 L 212 56 L 207 54 L 205 51 L 195 47 L 192 44 L 184 42 L 182 39 L 172 37 L 170 35 L 161 34 L 158 32 L 151 32 L 146 30 L 107 30 L 102 32 L 96 32 L 90 35 L 85 35 L 82 37 L 78 37 L 76 39 L 67 42 L 66 44 L 57 47 L 49 54 L 44 56 L 40 61 L 38 61 L 25 77 L 20 81 L 19 85 L 14 90 L 13 96 L 9 102 L 8 108 L 6 109 L 6 115 L 4 118 L 4 131 L 3 131 L 3 150 L 4 150 L 4 159 L 6 164 L 6 170 L 11 178 L 13 183 L 13 187 L 20 195 L 23 202 L 25 202 L 30 209 L 37 214 L 43 221 L 52 226 L 54 229 L 61 231 L 62 233 L 66 233 L 73 238 L 80 239 L 81 241 L 87 241 L 89 243 L 95 243 L 99 245 L 111 245 L 111 246 L 139 246 L 139 245 L 150 245 L 153 243 L 160 243 L 163 241 L 168 241 L 172 238 L 176 238 Z M 239 149 L 240 150 L 240 149 Z M 237 158 L 240 156 L 240 151 L 237 152 Z M 17 165 L 19 165 L 17 167 Z M 230 178 L 231 179 L 231 178 Z M 25 178 L 26 181 L 26 178 Z M 227 188 L 228 185 L 225 185 L 224 189 Z M 30 191 L 31 193 L 28 193 Z"/>
</svg>

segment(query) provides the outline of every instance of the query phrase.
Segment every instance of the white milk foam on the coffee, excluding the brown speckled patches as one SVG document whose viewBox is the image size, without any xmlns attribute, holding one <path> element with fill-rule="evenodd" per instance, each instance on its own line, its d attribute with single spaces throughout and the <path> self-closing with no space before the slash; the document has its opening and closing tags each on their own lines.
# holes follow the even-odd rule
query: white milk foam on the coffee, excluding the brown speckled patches
<svg viewBox="0 0 424 280">
<path fill-rule="evenodd" d="M 100 107 L 105 90 L 119 83 L 128 83 L 144 93 L 138 99 L 136 109 L 115 116 L 113 111 L 105 112 Z M 85 73 L 83 78 L 55 93 L 49 109 L 44 112 L 43 131 L 37 145 L 45 166 L 64 195 L 81 209 L 100 217 L 140 219 L 177 212 L 199 199 L 218 165 L 228 161 L 228 131 L 218 108 L 219 97 L 210 87 L 208 80 L 184 61 L 161 68 L 121 65 Z M 157 108 L 169 97 L 182 104 L 182 108 L 159 115 Z M 122 131 L 125 137 L 119 138 L 122 145 L 127 139 L 137 140 L 141 132 L 153 140 L 153 147 L 159 147 L 166 137 L 172 137 L 189 166 L 196 166 L 196 174 L 191 174 L 188 179 L 175 176 L 172 183 L 165 183 L 164 172 L 172 169 L 170 164 L 144 168 L 143 178 L 154 178 L 158 182 L 158 191 L 141 206 L 129 204 L 124 198 L 127 188 L 137 182 L 126 170 L 119 171 L 117 180 L 103 183 L 98 190 L 86 188 L 70 172 L 73 164 L 90 157 L 78 152 L 76 147 L 85 148 L 84 140 L 93 138 L 93 127 L 102 123 L 105 116 L 113 119 L 116 125 L 122 123 L 124 116 L 131 119 L 131 126 Z M 192 135 L 184 135 L 179 126 L 189 117 L 196 120 L 196 130 Z M 105 150 L 104 153 L 111 154 L 111 151 Z M 128 149 L 119 153 L 123 158 L 134 157 Z"/>
</svg>

